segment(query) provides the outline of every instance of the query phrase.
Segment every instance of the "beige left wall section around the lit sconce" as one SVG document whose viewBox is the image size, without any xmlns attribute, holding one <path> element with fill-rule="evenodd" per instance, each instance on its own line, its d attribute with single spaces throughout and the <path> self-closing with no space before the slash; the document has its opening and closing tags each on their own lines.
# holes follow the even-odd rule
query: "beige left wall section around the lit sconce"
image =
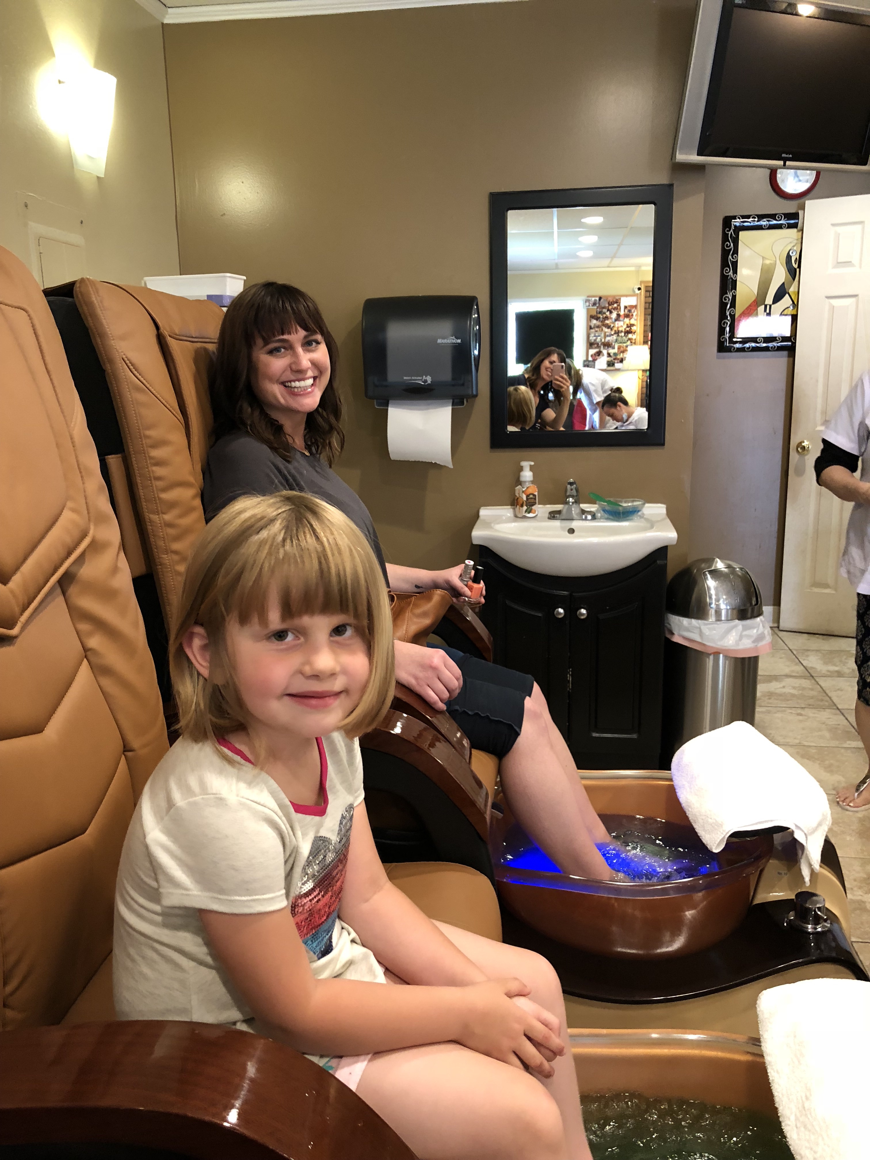
<svg viewBox="0 0 870 1160">
<path fill-rule="evenodd" d="M 65 46 L 117 78 L 104 177 L 73 169 L 66 137 L 37 110 L 37 74 Z M 34 222 L 84 237 L 93 277 L 139 283 L 146 274 L 176 274 L 164 49 L 154 17 L 135 0 L 6 0 L 0 77 L 0 245 L 32 268 Z"/>
</svg>

